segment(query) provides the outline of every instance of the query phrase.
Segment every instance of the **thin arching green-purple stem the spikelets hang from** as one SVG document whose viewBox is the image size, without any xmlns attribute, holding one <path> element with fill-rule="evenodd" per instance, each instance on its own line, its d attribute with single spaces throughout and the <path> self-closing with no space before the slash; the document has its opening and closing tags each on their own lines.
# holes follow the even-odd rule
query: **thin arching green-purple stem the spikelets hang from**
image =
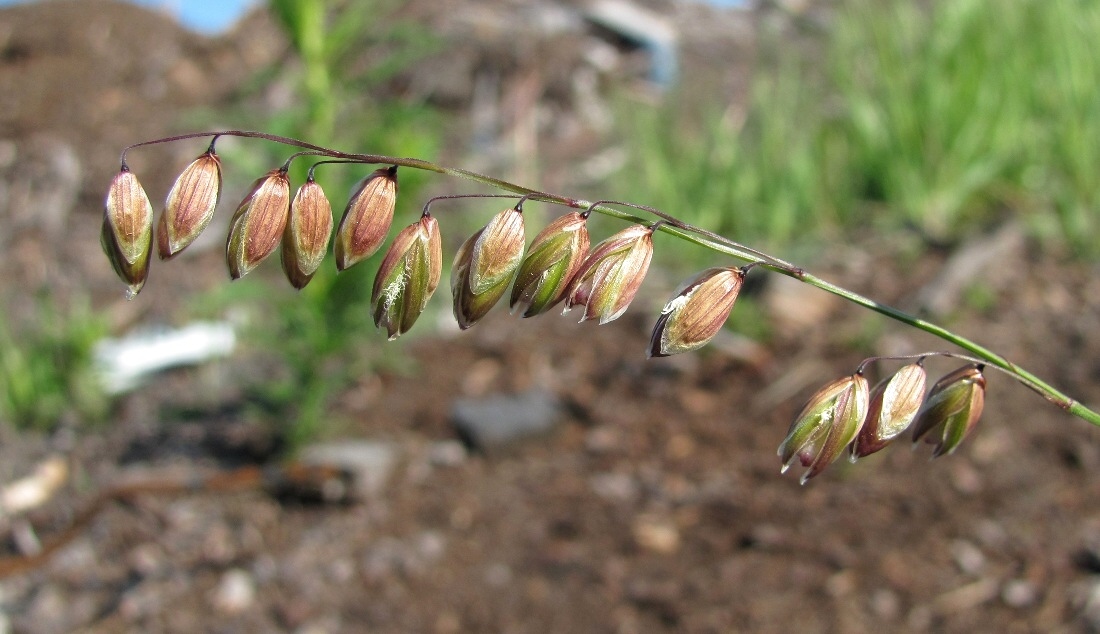
<svg viewBox="0 0 1100 634">
<path fill-rule="evenodd" d="M 494 178 L 492 176 L 486 176 L 484 174 L 479 174 L 476 172 L 470 172 L 468 170 L 437 165 L 436 163 L 431 163 L 429 161 L 424 161 L 420 158 L 400 158 L 396 156 L 385 156 L 382 154 L 356 154 L 356 153 L 340 152 L 337 150 L 331 150 L 329 147 L 316 145 L 307 141 L 289 139 L 286 136 L 278 136 L 275 134 L 267 134 L 264 132 L 241 131 L 241 130 L 231 130 L 224 132 L 196 132 L 191 134 L 182 134 L 176 136 L 169 136 L 166 139 L 158 139 L 155 141 L 136 143 L 122 151 L 123 168 L 125 168 L 127 151 L 129 151 L 132 147 L 152 145 L 155 143 L 167 143 L 172 141 L 178 141 L 182 139 L 194 139 L 199 136 L 215 136 L 215 138 L 245 136 L 252 139 L 265 139 L 267 141 L 272 141 L 275 143 L 282 143 L 285 145 L 293 145 L 296 147 L 312 150 L 318 154 L 326 155 L 332 158 L 342 158 L 364 164 L 398 165 L 402 167 L 410 167 L 413 170 L 424 170 L 428 172 L 435 172 L 437 174 L 457 176 L 459 178 L 465 178 L 468 181 L 481 183 L 483 185 L 495 187 L 497 189 L 503 189 L 505 192 L 512 192 L 515 194 L 527 196 L 528 198 L 531 198 L 534 200 L 541 200 L 544 203 L 552 203 L 556 205 L 564 205 L 572 208 L 591 209 L 593 211 L 597 211 L 600 214 L 613 218 L 618 218 L 620 220 L 626 220 L 629 222 L 647 223 L 647 220 L 644 218 L 608 206 L 609 204 L 615 204 L 615 203 L 604 204 L 603 201 L 597 201 L 594 204 L 588 200 L 569 198 L 566 196 L 560 196 L 547 192 L 539 192 L 537 189 L 531 189 L 529 187 L 524 187 L 522 185 L 517 185 L 515 183 L 509 183 L 507 181 L 502 181 L 499 178 Z M 768 255 L 767 253 L 757 251 L 756 249 L 746 247 L 745 244 L 740 244 L 717 233 L 713 233 L 700 227 L 694 227 L 692 225 L 683 222 L 663 211 L 660 211 L 659 209 L 654 209 L 652 207 L 646 207 L 642 205 L 634 205 L 634 204 L 624 204 L 624 205 L 628 205 L 630 207 L 645 210 L 661 218 L 664 222 L 660 225 L 659 230 L 664 233 L 672 234 L 681 240 L 685 240 L 688 242 L 697 244 L 705 249 L 710 249 L 717 253 L 724 253 L 726 255 L 730 255 L 739 260 L 746 260 L 748 262 L 757 263 L 765 269 L 787 275 L 789 277 L 793 277 L 794 280 L 798 280 L 800 282 L 810 284 L 811 286 L 815 286 L 827 293 L 832 293 L 834 295 L 843 297 L 848 302 L 851 302 L 853 304 L 862 306 L 864 308 L 868 308 L 870 310 L 875 310 L 876 313 L 884 315 L 891 319 L 901 321 L 902 324 L 906 324 L 919 330 L 924 330 L 925 332 L 938 337 L 944 341 L 958 346 L 959 348 L 970 352 L 971 354 L 978 357 L 979 359 L 985 360 L 991 365 L 996 365 L 997 368 L 1001 369 L 1009 376 L 1015 379 L 1018 382 L 1035 391 L 1050 403 L 1057 405 L 1058 407 L 1062 407 L 1063 409 L 1069 412 L 1074 416 L 1077 416 L 1078 418 L 1087 420 L 1093 425 L 1100 426 L 1100 413 L 1097 413 L 1093 409 L 1086 407 L 1078 401 L 1067 396 L 1066 394 L 1063 394 L 1057 389 L 1049 385 L 1038 376 L 1035 376 L 1031 372 L 1024 370 L 1023 368 L 1016 365 L 1015 363 L 1012 363 L 1004 357 L 1001 357 L 1000 354 L 993 352 L 992 350 L 989 350 L 988 348 L 979 343 L 976 343 L 965 337 L 956 335 L 942 326 L 937 326 L 931 321 L 926 321 L 924 319 L 921 319 L 920 317 L 915 317 L 913 315 L 899 310 L 898 308 L 894 308 L 892 306 L 880 304 L 873 299 L 864 297 L 858 293 L 853 293 L 847 288 L 843 288 L 840 286 L 826 282 L 825 280 L 822 280 L 821 277 L 817 277 L 815 275 L 811 275 L 810 273 L 806 273 L 804 270 L 789 262 L 785 262 L 772 255 Z"/>
</svg>

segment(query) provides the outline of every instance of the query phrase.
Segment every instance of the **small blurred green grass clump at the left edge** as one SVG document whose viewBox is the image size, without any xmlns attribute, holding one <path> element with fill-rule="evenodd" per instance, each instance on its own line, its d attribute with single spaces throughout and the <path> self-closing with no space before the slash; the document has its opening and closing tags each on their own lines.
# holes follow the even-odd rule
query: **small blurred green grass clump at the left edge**
<svg viewBox="0 0 1100 634">
<path fill-rule="evenodd" d="M 33 300 L 33 319 L 0 310 L 0 418 L 42 431 L 101 422 L 109 403 L 92 349 L 107 334 L 105 318 L 87 302 L 63 308 L 47 295 Z"/>
</svg>

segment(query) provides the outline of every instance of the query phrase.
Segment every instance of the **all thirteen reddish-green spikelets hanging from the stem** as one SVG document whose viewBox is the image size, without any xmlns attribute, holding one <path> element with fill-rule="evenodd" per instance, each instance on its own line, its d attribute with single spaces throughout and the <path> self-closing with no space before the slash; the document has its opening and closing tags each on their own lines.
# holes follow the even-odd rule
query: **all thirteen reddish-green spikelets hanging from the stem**
<svg viewBox="0 0 1100 634">
<path fill-rule="evenodd" d="M 302 288 L 321 266 L 330 244 L 338 271 L 382 249 L 397 205 L 396 166 L 375 170 L 361 179 L 338 225 L 312 171 L 294 196 L 287 172 L 284 165 L 257 178 L 237 206 L 226 238 L 226 264 L 233 280 L 282 248 L 287 280 Z M 154 233 L 161 259 L 175 258 L 208 228 L 221 189 L 221 161 L 211 143 L 176 178 L 154 231 L 148 196 L 123 163 L 108 189 L 101 243 L 129 296 L 136 295 L 148 276 Z M 646 277 L 653 232 L 662 222 L 631 223 L 591 247 L 588 212 L 570 211 L 541 229 L 528 247 L 526 199 L 493 216 L 458 249 L 450 282 L 460 328 L 474 326 L 506 294 L 512 311 L 522 317 L 541 315 L 559 304 L 564 304 L 566 313 L 580 310 L 581 321 L 607 324 L 622 316 Z M 653 326 L 648 356 L 697 350 L 716 337 L 750 266 L 712 267 L 684 282 Z M 436 292 L 441 274 L 439 223 L 426 207 L 416 222 L 396 233 L 382 258 L 371 294 L 375 325 L 391 339 L 407 332 Z M 983 365 L 959 368 L 926 393 L 923 362 L 921 358 L 904 365 L 873 387 L 864 376 L 864 365 L 821 387 L 779 446 L 782 469 L 801 464 L 805 482 L 842 453 L 855 461 L 883 449 L 908 429 L 913 430 L 914 442 L 933 445 L 933 457 L 954 452 L 981 417 Z"/>
</svg>

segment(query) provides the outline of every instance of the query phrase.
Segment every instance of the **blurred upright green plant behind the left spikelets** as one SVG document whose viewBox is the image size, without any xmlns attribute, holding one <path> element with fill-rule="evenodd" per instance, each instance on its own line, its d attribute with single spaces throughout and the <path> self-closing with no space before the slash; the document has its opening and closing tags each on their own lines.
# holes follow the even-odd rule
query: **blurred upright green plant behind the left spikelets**
<svg viewBox="0 0 1100 634">
<path fill-rule="evenodd" d="M 436 40 L 421 28 L 392 18 L 399 6 L 396 0 L 272 0 L 299 64 L 282 67 L 264 81 L 290 81 L 301 88 L 295 92 L 300 98 L 254 125 L 350 152 L 433 156 L 441 138 L 437 112 L 425 103 L 376 97 L 387 94 L 384 86 L 395 74 L 437 48 Z M 229 152 L 233 153 L 229 163 L 252 165 L 260 174 L 294 150 L 239 143 L 224 153 Z M 302 183 L 312 163 L 308 156 L 296 160 L 292 184 Z M 376 167 L 318 167 L 317 182 L 338 223 L 352 186 Z M 398 173 L 395 228 L 419 216 L 419 208 L 411 212 L 408 201 L 419 204 L 417 193 L 426 179 L 415 170 Z M 322 425 L 333 428 L 330 409 L 336 394 L 380 364 L 394 362 L 394 353 L 378 345 L 384 336 L 371 321 L 371 287 L 381 255 L 339 275 L 330 256 L 300 292 L 283 280 L 254 274 L 234 283 L 228 295 L 216 293 L 205 299 L 210 308 L 230 302 L 240 305 L 248 297 L 255 308 L 245 341 L 274 357 L 280 370 L 274 380 L 260 378 L 251 390 L 261 409 L 272 413 L 270 419 L 280 426 L 277 431 L 292 451 L 315 439 Z M 278 288 L 273 291 L 272 285 Z"/>
</svg>

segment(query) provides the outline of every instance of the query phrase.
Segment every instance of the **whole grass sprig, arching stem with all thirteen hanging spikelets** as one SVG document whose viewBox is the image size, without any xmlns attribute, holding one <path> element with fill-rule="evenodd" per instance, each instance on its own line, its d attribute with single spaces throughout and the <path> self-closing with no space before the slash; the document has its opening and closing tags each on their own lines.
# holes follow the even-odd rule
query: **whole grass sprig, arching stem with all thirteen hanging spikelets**
<svg viewBox="0 0 1100 634">
<path fill-rule="evenodd" d="M 650 356 L 693 350 L 705 345 L 721 329 L 733 307 L 749 267 L 758 266 L 787 275 L 853 304 L 928 332 L 966 351 L 927 352 L 917 356 L 872 358 L 848 378 L 829 383 L 806 404 L 780 447 L 784 468 L 794 461 L 809 467 L 804 479 L 815 476 L 845 447 L 856 458 L 877 451 L 900 430 L 912 424 L 914 438 L 927 437 L 936 445 L 934 455 L 950 453 L 974 427 L 985 400 L 983 370 L 994 368 L 1050 403 L 1093 425 L 1100 414 L 1063 394 L 1038 376 L 997 352 L 933 323 L 822 280 L 803 269 L 725 236 L 695 227 L 660 209 L 622 200 L 588 201 L 541 192 L 458 167 L 438 165 L 414 157 L 341 152 L 307 141 L 264 132 L 228 130 L 196 132 L 144 141 L 122 151 L 120 175 L 111 185 L 103 225 L 103 248 L 119 275 L 140 291 L 148 265 L 152 239 L 151 209 L 136 178 L 130 173 L 130 150 L 187 139 L 210 138 L 207 153 L 177 179 L 156 229 L 162 258 L 185 248 L 205 228 L 220 194 L 221 166 L 215 143 L 221 136 L 261 139 L 297 147 L 283 167 L 254 185 L 231 221 L 230 270 L 243 275 L 270 254 L 282 234 L 283 264 L 288 278 L 301 287 L 323 259 L 331 233 L 326 221 L 329 205 L 314 184 L 318 165 L 355 163 L 388 166 L 364 178 L 353 192 L 336 232 L 338 269 L 353 265 L 381 248 L 389 231 L 397 195 L 397 168 L 408 167 L 464 178 L 508 194 L 458 194 L 429 199 L 418 222 L 400 231 L 386 252 L 372 295 L 375 323 L 385 325 L 396 337 L 413 325 L 436 288 L 441 269 L 439 232 L 429 206 L 453 198 L 518 198 L 463 244 L 452 267 L 455 317 L 470 327 L 513 285 L 510 305 L 530 317 L 564 302 L 566 310 L 583 306 L 582 320 L 606 323 L 626 309 L 641 284 L 652 255 L 652 233 L 660 231 L 716 253 L 748 262 L 735 267 L 703 272 L 685 284 L 662 310 L 650 343 Z M 290 199 L 286 173 L 290 162 L 301 156 L 319 156 L 309 170 L 308 184 Z M 180 192 L 183 190 L 183 192 Z M 186 195 L 184 195 L 186 194 Z M 199 200 L 201 209 L 195 207 Z M 570 209 L 535 238 L 524 256 L 522 203 L 538 200 Z M 656 218 L 642 217 L 631 211 Z M 593 212 L 624 220 L 629 228 L 588 250 L 586 220 Z M 167 220 L 166 220 L 167 218 Z M 200 218 L 201 220 L 193 220 Z M 289 219 L 289 220 L 288 220 Z M 196 225 L 201 222 L 201 226 Z M 284 229 L 285 227 L 285 229 Z M 262 249 L 256 244 L 262 243 Z M 237 266 L 234 266 L 237 264 Z M 513 284 L 514 282 L 514 284 Z M 969 364 L 944 376 L 924 393 L 926 357 L 942 357 Z M 913 360 L 873 390 L 864 369 L 884 360 Z M 942 434 L 942 437 L 937 435 Z"/>
</svg>

